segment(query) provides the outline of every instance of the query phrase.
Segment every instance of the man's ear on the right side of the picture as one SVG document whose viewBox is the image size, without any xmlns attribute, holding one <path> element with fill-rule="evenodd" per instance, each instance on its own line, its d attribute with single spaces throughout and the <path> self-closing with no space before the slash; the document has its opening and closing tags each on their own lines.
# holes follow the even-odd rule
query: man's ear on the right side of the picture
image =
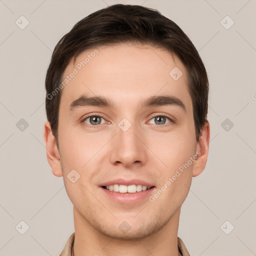
<svg viewBox="0 0 256 256">
<path fill-rule="evenodd" d="M 208 152 L 209 152 L 209 140 L 210 140 L 210 125 L 206 121 L 201 129 L 201 136 L 197 142 L 196 153 L 197 158 L 193 164 L 192 176 L 195 177 L 199 175 L 205 168 Z"/>
</svg>

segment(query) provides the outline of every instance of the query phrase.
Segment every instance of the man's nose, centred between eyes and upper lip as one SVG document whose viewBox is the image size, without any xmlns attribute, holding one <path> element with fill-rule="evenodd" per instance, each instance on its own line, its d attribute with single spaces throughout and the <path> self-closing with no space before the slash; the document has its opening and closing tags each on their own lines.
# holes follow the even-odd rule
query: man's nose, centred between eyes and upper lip
<svg viewBox="0 0 256 256">
<path fill-rule="evenodd" d="M 135 124 L 127 130 L 121 125 L 117 126 L 116 135 L 111 140 L 110 162 L 114 165 L 123 165 L 123 167 L 145 164 L 147 158 L 145 140 L 142 130 Z"/>
</svg>

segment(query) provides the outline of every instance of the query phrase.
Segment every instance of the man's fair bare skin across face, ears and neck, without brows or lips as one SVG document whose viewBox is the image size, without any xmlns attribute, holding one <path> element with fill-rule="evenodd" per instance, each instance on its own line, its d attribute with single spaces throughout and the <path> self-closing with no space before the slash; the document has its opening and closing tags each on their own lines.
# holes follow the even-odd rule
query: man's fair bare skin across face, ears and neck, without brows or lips
<svg viewBox="0 0 256 256">
<path fill-rule="evenodd" d="M 174 54 L 146 44 L 122 43 L 97 49 L 95 57 L 62 88 L 58 148 L 50 123 L 44 124 L 47 160 L 52 173 L 63 176 L 73 203 L 74 255 L 180 255 L 180 207 L 192 177 L 205 167 L 209 123 L 205 123 L 197 142 L 186 70 Z M 76 63 L 92 51 L 81 53 Z M 71 59 L 64 76 L 73 67 Z M 177 81 L 169 75 L 173 67 L 183 73 Z M 71 102 L 81 94 L 106 96 L 116 108 L 82 106 L 69 111 Z M 141 109 L 138 102 L 152 95 L 175 96 L 186 111 L 176 105 Z M 102 124 L 86 126 L 93 125 L 89 118 L 82 122 L 88 113 L 102 115 Z M 156 126 L 154 117 L 162 114 L 175 117 L 176 122 L 166 118 L 164 124 Z M 131 123 L 125 132 L 118 127 L 123 118 Z M 196 151 L 200 156 L 154 202 L 146 198 L 133 204 L 117 203 L 99 187 L 104 181 L 121 177 L 149 181 L 158 190 Z M 67 178 L 72 169 L 80 174 L 74 183 Z M 131 227 L 127 233 L 118 229 L 123 221 Z"/>
</svg>

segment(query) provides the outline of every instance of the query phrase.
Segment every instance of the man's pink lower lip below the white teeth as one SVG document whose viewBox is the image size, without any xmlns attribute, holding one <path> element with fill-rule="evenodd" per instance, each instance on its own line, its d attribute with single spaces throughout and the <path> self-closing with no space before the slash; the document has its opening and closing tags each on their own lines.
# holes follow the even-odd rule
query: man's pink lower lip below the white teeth
<svg viewBox="0 0 256 256">
<path fill-rule="evenodd" d="M 145 198 L 147 198 L 154 190 L 155 187 L 151 187 L 150 189 L 135 192 L 135 193 L 119 193 L 115 191 L 110 191 L 108 189 L 105 189 L 103 187 L 100 187 L 103 192 L 109 196 L 112 200 L 119 202 L 119 203 L 134 203 L 141 201 Z"/>
</svg>

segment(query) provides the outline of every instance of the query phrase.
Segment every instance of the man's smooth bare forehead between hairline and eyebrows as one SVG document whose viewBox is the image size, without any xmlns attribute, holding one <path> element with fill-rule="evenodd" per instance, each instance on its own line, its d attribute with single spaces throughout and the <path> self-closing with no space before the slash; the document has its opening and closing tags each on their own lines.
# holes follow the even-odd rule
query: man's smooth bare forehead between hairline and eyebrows
<svg viewBox="0 0 256 256">
<path fill-rule="evenodd" d="M 181 76 L 173 79 L 173 72 Z M 88 49 L 77 56 L 75 63 L 70 60 L 64 79 L 68 81 L 62 88 L 61 102 L 69 105 L 82 94 L 103 95 L 119 105 L 156 94 L 182 98 L 184 104 L 191 101 L 186 70 L 179 58 L 147 44 Z"/>
</svg>

